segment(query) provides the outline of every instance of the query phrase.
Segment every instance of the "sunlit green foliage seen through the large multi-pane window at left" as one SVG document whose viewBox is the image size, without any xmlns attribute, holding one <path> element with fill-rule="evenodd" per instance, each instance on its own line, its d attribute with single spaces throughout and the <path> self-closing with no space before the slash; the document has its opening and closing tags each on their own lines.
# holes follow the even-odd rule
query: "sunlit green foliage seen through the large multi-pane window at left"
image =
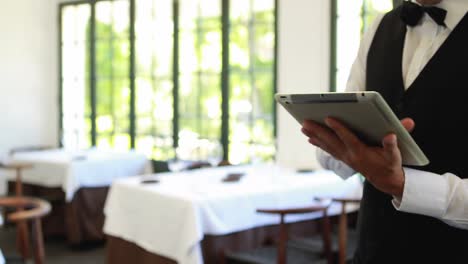
<svg viewBox="0 0 468 264">
<path fill-rule="evenodd" d="M 270 2 L 270 3 L 268 3 Z M 178 61 L 174 62 L 171 0 L 136 0 L 135 76 L 130 76 L 130 21 L 128 0 L 99 1 L 95 4 L 88 45 L 95 47 L 96 145 L 100 148 L 129 149 L 130 78 L 135 78 L 135 148 L 154 159 L 166 160 L 179 148 L 195 142 L 219 144 L 222 127 L 222 25 L 221 5 L 185 0 L 180 12 Z M 221 3 L 221 1 L 220 1 Z M 242 4 L 241 4 L 242 3 Z M 263 7 L 257 8 L 258 3 Z M 268 5 L 265 7 L 265 3 Z M 243 16 L 230 19 L 229 45 L 229 149 L 234 163 L 274 157 L 274 1 L 232 1 Z M 240 6 L 245 5 L 245 6 Z M 75 18 L 79 21 L 79 18 Z M 127 21 L 126 22 L 122 22 Z M 79 22 L 77 22 L 79 23 Z M 62 28 L 63 31 L 67 30 Z M 86 75 L 91 71 L 89 47 Z M 62 52 L 65 52 L 62 50 Z M 178 63 L 178 116 L 173 116 L 176 88 L 173 66 Z M 65 87 L 63 88 L 65 89 Z M 91 116 L 91 82 L 86 82 L 85 114 Z M 66 107 L 66 106 L 65 106 Z M 178 134 L 173 135 L 174 120 Z M 91 123 L 87 123 L 91 127 Z M 90 129 L 89 129 L 90 130 Z M 88 131 L 89 131 L 88 130 Z M 203 147 L 203 146 L 201 146 Z M 202 150 L 198 149 L 199 158 Z M 197 153 L 194 154 L 197 158 Z"/>
</svg>

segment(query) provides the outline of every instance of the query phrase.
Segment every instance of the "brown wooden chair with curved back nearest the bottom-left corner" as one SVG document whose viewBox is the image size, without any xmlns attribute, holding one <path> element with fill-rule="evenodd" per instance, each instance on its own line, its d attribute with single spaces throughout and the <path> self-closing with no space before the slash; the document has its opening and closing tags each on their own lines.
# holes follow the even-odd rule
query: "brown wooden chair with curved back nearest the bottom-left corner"
<svg viewBox="0 0 468 264">
<path fill-rule="evenodd" d="M 27 221 L 32 223 L 33 230 L 33 247 L 34 247 L 34 262 L 43 264 L 45 258 L 44 240 L 42 235 L 41 218 L 47 215 L 51 206 L 48 202 L 30 197 L 1 197 L 0 207 L 22 209 L 8 214 L 9 221 L 17 223 L 17 227 L 25 226 L 27 230 Z M 21 225 L 20 225 L 21 224 Z M 29 241 L 28 241 L 29 242 Z M 24 259 L 29 256 L 24 255 L 20 251 Z"/>
</svg>

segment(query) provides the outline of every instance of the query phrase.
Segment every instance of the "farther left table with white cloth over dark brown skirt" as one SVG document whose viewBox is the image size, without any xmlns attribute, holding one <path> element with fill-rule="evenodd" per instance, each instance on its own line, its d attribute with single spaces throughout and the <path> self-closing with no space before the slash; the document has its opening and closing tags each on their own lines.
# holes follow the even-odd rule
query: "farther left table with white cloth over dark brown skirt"
<svg viewBox="0 0 468 264">
<path fill-rule="evenodd" d="M 30 164 L 21 174 L 21 192 L 52 203 L 44 218 L 44 235 L 65 236 L 70 244 L 102 241 L 103 207 L 109 185 L 119 178 L 152 171 L 150 162 L 136 152 L 89 149 L 48 149 L 12 154 L 5 164 Z M 8 174 L 9 193 L 17 189 Z"/>
</svg>

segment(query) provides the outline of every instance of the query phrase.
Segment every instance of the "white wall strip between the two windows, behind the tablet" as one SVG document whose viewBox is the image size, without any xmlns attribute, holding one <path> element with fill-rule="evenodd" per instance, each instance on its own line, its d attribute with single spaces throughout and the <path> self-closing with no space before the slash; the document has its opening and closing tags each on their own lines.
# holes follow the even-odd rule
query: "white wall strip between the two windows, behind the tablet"
<svg viewBox="0 0 468 264">
<path fill-rule="evenodd" d="M 280 0 L 278 91 L 327 91 L 330 60 L 330 0 Z M 315 147 L 300 125 L 278 107 L 277 161 L 293 167 L 318 167 Z"/>
</svg>

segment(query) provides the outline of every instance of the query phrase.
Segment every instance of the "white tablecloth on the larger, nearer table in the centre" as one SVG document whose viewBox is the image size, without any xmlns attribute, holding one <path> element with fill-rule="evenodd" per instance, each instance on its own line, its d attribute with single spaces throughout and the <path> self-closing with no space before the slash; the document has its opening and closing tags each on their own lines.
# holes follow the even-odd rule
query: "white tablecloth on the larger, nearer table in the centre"
<svg viewBox="0 0 468 264">
<path fill-rule="evenodd" d="M 221 182 L 230 172 L 246 175 L 240 182 Z M 204 234 L 223 235 L 279 223 L 279 217 L 256 213 L 257 208 L 310 206 L 313 197 L 360 197 L 362 192 L 356 177 L 343 181 L 329 171 L 296 173 L 274 165 L 145 177 L 160 182 L 142 184 L 141 178 L 128 178 L 112 184 L 104 232 L 180 264 L 203 263 L 200 241 Z M 331 214 L 339 211 L 338 205 L 330 208 Z M 291 216 L 286 221 L 319 216 Z"/>
</svg>

